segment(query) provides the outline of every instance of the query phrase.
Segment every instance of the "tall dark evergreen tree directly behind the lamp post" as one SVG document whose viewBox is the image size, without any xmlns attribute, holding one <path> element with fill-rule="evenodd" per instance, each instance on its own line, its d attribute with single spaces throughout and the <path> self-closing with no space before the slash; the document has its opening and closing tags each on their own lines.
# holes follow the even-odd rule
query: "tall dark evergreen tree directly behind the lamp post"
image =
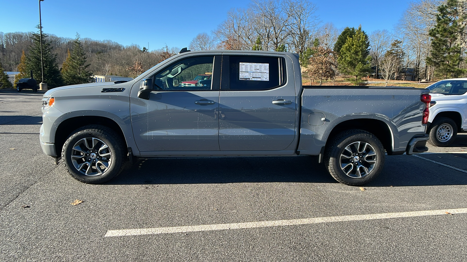
<svg viewBox="0 0 467 262">
<path fill-rule="evenodd" d="M 42 28 L 39 28 L 42 30 Z M 52 46 L 47 39 L 48 35 L 42 33 L 42 57 L 44 63 L 44 79 L 42 79 L 41 67 L 41 37 L 40 31 L 34 33 L 31 37 L 33 40 L 32 46 L 29 48 L 29 53 L 26 56 L 27 72 L 33 71 L 33 76 L 38 83 L 47 83 L 48 88 L 54 88 L 62 85 L 62 76 L 57 65 L 57 55 L 52 54 Z"/>
</svg>

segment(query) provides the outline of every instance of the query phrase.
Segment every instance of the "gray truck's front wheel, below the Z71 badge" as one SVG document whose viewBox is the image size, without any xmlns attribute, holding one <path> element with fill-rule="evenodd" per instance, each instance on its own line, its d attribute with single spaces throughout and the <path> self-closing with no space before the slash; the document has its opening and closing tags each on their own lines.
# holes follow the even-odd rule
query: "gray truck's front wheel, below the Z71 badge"
<svg viewBox="0 0 467 262">
<path fill-rule="evenodd" d="M 77 143 L 82 143 L 79 147 L 82 151 L 76 150 Z M 85 143 L 87 143 L 87 145 L 92 143 L 92 149 L 90 150 L 83 146 L 86 145 Z M 103 145 L 108 146 L 108 150 L 107 148 L 103 150 L 97 149 L 102 148 Z M 126 151 L 124 148 L 122 139 L 112 129 L 102 125 L 87 125 L 75 130 L 65 141 L 62 148 L 62 159 L 66 169 L 74 179 L 83 183 L 100 184 L 113 179 L 122 171 L 123 164 L 126 160 Z M 89 161 L 85 154 L 90 152 L 91 154 L 88 154 Z M 75 154 L 73 159 L 71 157 L 72 153 Z M 108 157 L 109 153 L 110 157 Z M 77 158 L 77 156 L 81 154 L 85 158 Z M 106 155 L 108 158 L 100 154 Z M 103 164 L 106 164 L 107 167 Z M 100 166 L 99 169 L 97 168 L 98 165 Z M 78 167 L 82 168 L 82 172 L 78 170 Z M 102 171 L 103 168 L 105 168 L 104 171 Z M 86 169 L 86 171 L 84 171 L 84 169 Z M 97 172 L 97 174 L 93 174 L 94 172 Z"/>
</svg>

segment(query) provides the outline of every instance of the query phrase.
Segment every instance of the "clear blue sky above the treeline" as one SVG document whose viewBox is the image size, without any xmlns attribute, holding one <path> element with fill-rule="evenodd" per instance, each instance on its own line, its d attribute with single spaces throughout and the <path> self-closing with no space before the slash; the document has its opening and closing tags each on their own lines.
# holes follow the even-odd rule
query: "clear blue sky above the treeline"
<svg viewBox="0 0 467 262">
<path fill-rule="evenodd" d="M 358 27 L 368 34 L 389 31 L 401 18 L 409 1 L 314 0 L 323 23 L 337 28 Z M 148 46 L 149 50 L 187 47 L 198 33 L 210 33 L 226 18 L 230 8 L 248 7 L 250 0 L 44 0 L 42 27 L 48 34 L 95 40 L 112 40 L 122 45 Z M 36 31 L 38 0 L 3 1 L 0 32 Z M 19 15 L 19 14 L 27 15 Z"/>
</svg>

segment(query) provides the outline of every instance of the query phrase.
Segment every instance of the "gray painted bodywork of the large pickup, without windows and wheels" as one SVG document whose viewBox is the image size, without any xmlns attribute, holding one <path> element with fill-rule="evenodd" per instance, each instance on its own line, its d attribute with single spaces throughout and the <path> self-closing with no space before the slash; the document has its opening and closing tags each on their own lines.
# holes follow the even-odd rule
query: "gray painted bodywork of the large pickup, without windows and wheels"
<svg viewBox="0 0 467 262">
<path fill-rule="evenodd" d="M 138 97 L 143 79 L 194 55 L 282 57 L 286 81 L 272 90 L 155 90 L 149 99 Z M 108 88 L 120 91 L 103 92 Z M 425 134 L 426 125 L 421 123 L 425 104 L 420 101 L 425 93 L 428 90 L 413 88 L 304 88 L 298 56 L 291 53 L 187 52 L 127 83 L 47 91 L 44 100 L 54 97 L 55 103 L 43 108 L 40 140 L 46 154 L 59 156 L 61 149 L 54 145 L 59 125 L 74 117 L 94 116 L 118 124 L 134 156 L 318 155 L 338 124 L 376 119 L 390 130 L 391 150 L 405 152 L 411 139 Z M 279 99 L 291 103 L 271 103 Z M 196 103 L 206 100 L 213 103 Z"/>
</svg>

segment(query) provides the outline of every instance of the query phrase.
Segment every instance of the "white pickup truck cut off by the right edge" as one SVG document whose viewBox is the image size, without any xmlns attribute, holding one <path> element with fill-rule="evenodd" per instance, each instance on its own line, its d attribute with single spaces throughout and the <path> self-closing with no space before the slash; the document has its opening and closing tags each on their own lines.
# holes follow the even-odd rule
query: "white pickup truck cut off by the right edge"
<svg viewBox="0 0 467 262">
<path fill-rule="evenodd" d="M 432 95 L 426 132 L 428 142 L 436 146 L 451 145 L 458 132 L 467 130 L 467 78 L 453 78 L 428 87 Z"/>
</svg>

